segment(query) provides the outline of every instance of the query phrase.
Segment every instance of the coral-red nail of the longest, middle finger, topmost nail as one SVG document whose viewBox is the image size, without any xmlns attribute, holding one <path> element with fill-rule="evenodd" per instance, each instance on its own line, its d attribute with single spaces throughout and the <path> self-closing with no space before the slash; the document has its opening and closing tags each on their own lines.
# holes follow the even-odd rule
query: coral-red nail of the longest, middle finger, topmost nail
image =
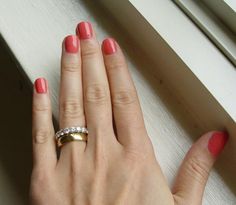
<svg viewBox="0 0 236 205">
<path fill-rule="evenodd" d="M 81 22 L 77 25 L 76 34 L 80 39 L 89 39 L 93 37 L 92 25 L 89 22 Z"/>
</svg>

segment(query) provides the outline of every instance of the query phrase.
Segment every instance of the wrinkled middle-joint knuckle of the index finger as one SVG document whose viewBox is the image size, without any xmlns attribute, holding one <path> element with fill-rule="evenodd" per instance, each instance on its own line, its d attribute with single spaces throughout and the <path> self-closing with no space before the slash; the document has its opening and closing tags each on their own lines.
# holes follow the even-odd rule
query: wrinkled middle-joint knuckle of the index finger
<svg viewBox="0 0 236 205">
<path fill-rule="evenodd" d="M 112 94 L 112 101 L 115 106 L 122 106 L 137 103 L 137 95 L 133 90 L 122 90 Z"/>
</svg>

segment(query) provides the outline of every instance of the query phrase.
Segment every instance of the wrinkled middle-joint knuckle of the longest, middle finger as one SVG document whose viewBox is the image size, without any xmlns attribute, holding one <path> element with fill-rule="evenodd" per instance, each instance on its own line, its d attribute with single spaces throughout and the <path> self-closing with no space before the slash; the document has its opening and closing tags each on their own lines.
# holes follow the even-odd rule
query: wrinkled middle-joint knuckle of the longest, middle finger
<svg viewBox="0 0 236 205">
<path fill-rule="evenodd" d="M 87 102 L 105 104 L 108 102 L 108 92 L 103 85 L 90 85 L 86 88 L 85 98 Z"/>
</svg>

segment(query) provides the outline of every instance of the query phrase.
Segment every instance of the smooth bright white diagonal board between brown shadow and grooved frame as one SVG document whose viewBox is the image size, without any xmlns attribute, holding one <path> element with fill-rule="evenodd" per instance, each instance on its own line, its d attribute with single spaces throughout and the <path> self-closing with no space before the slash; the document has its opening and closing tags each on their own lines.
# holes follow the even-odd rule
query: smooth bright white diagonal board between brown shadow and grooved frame
<svg viewBox="0 0 236 205">
<path fill-rule="evenodd" d="M 165 0 L 129 2 L 236 121 L 235 66 L 181 10 L 177 9 L 173 2 Z"/>
</svg>

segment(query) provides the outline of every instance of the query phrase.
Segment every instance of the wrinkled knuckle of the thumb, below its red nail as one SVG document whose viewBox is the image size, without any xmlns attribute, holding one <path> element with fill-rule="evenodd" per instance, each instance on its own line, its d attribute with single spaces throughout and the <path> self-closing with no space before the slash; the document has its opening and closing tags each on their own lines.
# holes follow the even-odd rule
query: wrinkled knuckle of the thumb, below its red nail
<svg viewBox="0 0 236 205">
<path fill-rule="evenodd" d="M 209 176 L 209 168 L 205 162 L 198 157 L 191 157 L 187 160 L 187 171 L 199 183 L 204 183 Z"/>
</svg>

